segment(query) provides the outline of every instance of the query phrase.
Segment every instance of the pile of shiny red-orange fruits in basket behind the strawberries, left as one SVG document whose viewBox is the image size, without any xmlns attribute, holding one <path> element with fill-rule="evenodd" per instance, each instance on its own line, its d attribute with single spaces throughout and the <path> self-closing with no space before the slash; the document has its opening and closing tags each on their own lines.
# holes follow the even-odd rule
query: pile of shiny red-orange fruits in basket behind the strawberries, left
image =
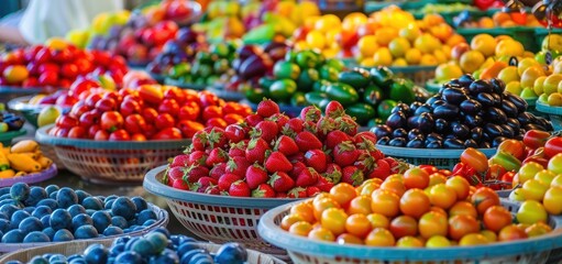
<svg viewBox="0 0 562 264">
<path fill-rule="evenodd" d="M 84 99 L 56 119 L 51 135 L 98 141 L 190 139 L 206 127 L 242 122 L 251 109 L 208 91 L 142 85 L 119 91 L 85 90 Z"/>
</svg>

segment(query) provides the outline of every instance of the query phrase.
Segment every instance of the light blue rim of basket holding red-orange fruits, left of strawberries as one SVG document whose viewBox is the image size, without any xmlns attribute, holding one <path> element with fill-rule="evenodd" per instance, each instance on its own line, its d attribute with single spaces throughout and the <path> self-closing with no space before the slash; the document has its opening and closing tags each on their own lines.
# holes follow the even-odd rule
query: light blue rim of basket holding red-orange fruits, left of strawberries
<svg viewBox="0 0 562 264">
<path fill-rule="evenodd" d="M 181 144 L 190 144 L 191 139 L 163 141 L 95 141 L 52 136 L 47 133 L 54 124 L 37 129 L 35 139 L 41 144 L 54 146 L 75 146 L 93 150 L 169 150 Z"/>
</svg>

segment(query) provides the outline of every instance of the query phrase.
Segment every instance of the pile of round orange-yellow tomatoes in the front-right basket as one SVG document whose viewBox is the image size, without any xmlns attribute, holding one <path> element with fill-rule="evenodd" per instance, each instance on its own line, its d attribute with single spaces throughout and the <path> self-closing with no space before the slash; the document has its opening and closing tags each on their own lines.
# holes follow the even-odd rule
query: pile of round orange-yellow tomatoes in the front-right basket
<svg viewBox="0 0 562 264">
<path fill-rule="evenodd" d="M 521 205 L 522 224 L 514 223 L 491 188 L 476 189 L 460 176 L 432 179 L 416 167 L 357 188 L 339 184 L 293 206 L 280 228 L 310 240 L 397 248 L 474 246 L 552 231 L 531 206 Z"/>
</svg>

